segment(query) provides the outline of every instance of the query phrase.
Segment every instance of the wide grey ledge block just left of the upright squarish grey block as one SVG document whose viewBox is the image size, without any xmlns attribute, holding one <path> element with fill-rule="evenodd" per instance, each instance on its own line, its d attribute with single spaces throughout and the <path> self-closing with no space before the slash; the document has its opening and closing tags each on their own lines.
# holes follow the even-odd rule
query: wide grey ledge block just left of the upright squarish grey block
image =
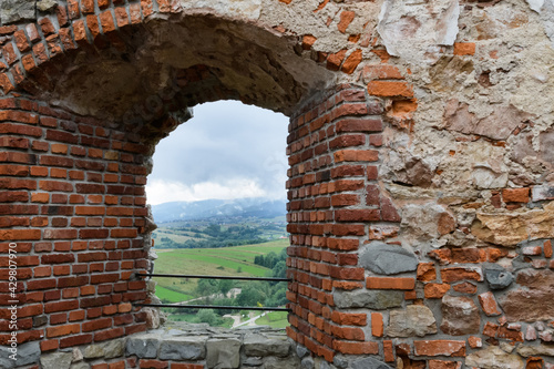
<svg viewBox="0 0 554 369">
<path fill-rule="evenodd" d="M 206 357 L 207 336 L 164 338 L 160 345 L 161 360 L 198 360 Z"/>
</svg>

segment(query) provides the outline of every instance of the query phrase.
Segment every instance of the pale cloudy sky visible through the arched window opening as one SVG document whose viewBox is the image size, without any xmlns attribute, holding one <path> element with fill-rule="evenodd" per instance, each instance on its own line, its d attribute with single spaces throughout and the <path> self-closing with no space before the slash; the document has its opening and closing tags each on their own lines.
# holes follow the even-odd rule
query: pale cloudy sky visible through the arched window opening
<svg viewBox="0 0 554 369">
<path fill-rule="evenodd" d="M 285 199 L 287 125 L 283 114 L 235 101 L 194 107 L 194 117 L 156 146 L 148 204 Z"/>
</svg>

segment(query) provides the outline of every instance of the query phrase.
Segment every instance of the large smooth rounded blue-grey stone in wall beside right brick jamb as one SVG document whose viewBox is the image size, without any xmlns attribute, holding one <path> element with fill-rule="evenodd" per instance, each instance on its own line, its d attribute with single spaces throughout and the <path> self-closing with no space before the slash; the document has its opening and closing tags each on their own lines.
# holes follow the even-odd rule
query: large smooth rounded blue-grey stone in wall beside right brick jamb
<svg viewBox="0 0 554 369">
<path fill-rule="evenodd" d="M 373 242 L 360 254 L 360 265 L 377 274 L 399 274 L 418 268 L 416 255 L 401 246 Z"/>
</svg>

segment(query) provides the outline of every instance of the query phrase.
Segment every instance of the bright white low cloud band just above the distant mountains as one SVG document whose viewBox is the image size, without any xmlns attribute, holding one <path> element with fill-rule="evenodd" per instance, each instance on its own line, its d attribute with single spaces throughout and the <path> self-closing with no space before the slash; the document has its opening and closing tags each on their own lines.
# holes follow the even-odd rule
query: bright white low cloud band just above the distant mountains
<svg viewBox="0 0 554 369">
<path fill-rule="evenodd" d="M 203 182 L 194 185 L 154 180 L 146 185 L 146 198 L 151 205 L 209 198 L 232 199 L 268 196 L 270 197 L 255 181 L 248 178 L 235 178 L 224 183 Z"/>
</svg>

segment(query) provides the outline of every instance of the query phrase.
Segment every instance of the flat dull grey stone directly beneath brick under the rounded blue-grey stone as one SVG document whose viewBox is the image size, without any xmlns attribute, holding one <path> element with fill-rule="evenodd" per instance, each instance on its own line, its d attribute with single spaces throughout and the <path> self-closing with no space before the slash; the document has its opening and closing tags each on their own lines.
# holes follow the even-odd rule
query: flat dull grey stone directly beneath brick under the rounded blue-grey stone
<svg viewBox="0 0 554 369">
<path fill-rule="evenodd" d="M 339 308 L 367 307 L 375 310 L 384 310 L 399 307 L 404 300 L 404 294 L 396 290 L 367 290 L 335 291 L 335 304 Z"/>
</svg>

